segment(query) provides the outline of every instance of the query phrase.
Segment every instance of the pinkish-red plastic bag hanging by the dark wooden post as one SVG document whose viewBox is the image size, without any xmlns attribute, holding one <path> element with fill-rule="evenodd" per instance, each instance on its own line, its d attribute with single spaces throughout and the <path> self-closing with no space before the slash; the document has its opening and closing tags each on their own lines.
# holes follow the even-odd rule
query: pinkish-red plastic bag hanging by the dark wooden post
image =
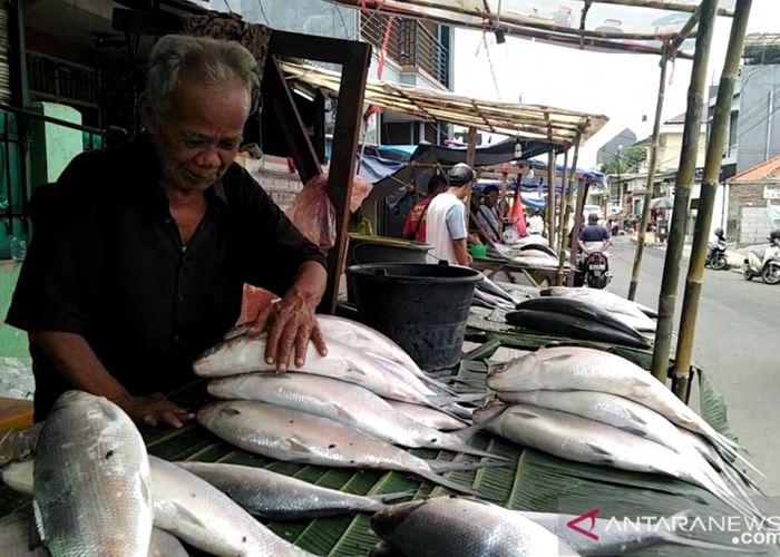
<svg viewBox="0 0 780 557">
<path fill-rule="evenodd" d="M 328 175 L 311 178 L 287 208 L 287 217 L 320 250 L 335 244 L 335 207 L 328 197 Z"/>
</svg>

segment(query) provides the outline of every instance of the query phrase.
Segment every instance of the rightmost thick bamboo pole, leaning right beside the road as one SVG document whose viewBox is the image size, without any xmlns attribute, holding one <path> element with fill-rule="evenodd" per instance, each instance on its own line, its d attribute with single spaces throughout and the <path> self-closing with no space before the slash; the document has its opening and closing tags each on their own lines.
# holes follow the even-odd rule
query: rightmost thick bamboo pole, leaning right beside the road
<svg viewBox="0 0 780 557">
<path fill-rule="evenodd" d="M 693 250 L 691 262 L 688 266 L 685 280 L 685 295 L 683 297 L 682 316 L 680 319 L 680 338 L 677 339 L 676 356 L 672 369 L 672 389 L 682 400 L 688 397 L 690 383 L 691 358 L 693 354 L 693 340 L 696 332 L 696 313 L 701 297 L 704 278 L 704 260 L 708 252 L 710 226 L 712 226 L 712 212 L 715 206 L 718 182 L 722 165 L 723 148 L 725 147 L 727 129 L 731 117 L 731 104 L 734 95 L 734 81 L 740 67 L 742 48 L 744 47 L 744 33 L 750 17 L 752 0 L 738 0 L 734 10 L 734 20 L 731 23 L 729 48 L 721 74 L 721 82 L 718 88 L 718 102 L 715 115 L 710 128 L 710 141 L 706 146 L 706 163 L 704 164 L 704 179 L 701 184 L 699 197 L 699 211 L 696 226 L 693 232 Z"/>
</svg>

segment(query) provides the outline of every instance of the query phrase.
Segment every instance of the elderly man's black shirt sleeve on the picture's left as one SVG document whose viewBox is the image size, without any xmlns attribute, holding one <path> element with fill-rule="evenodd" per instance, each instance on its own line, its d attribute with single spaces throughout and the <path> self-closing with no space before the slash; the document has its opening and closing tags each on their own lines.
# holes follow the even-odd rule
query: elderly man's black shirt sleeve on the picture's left
<svg viewBox="0 0 780 557">
<path fill-rule="evenodd" d="M 7 315 L 12 326 L 84 334 L 94 314 L 103 240 L 87 160 L 74 159 L 36 199 L 33 235 Z"/>
</svg>

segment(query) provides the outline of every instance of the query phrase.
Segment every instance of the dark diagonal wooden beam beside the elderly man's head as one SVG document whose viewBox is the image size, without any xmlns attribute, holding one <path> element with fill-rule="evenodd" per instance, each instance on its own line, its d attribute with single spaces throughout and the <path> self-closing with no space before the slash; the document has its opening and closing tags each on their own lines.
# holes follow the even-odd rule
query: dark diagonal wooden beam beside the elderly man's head
<svg viewBox="0 0 780 557">
<path fill-rule="evenodd" d="M 292 92 L 290 92 L 284 75 L 273 56 L 269 56 L 265 62 L 262 90 L 263 101 L 267 107 L 266 114 L 273 114 L 276 117 L 279 129 L 287 143 L 293 160 L 295 160 L 298 175 L 301 182 L 308 184 L 311 178 L 322 174 L 322 168 L 292 98 Z"/>
</svg>

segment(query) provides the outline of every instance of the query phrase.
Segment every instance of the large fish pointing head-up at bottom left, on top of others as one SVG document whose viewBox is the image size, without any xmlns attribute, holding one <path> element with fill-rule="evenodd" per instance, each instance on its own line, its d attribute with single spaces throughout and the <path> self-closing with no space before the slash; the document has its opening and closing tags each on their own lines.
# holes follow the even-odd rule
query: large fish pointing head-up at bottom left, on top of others
<svg viewBox="0 0 780 557">
<path fill-rule="evenodd" d="M 116 404 L 82 391 L 55 403 L 36 446 L 33 511 L 52 557 L 146 556 L 152 486 L 146 447 Z"/>
</svg>

